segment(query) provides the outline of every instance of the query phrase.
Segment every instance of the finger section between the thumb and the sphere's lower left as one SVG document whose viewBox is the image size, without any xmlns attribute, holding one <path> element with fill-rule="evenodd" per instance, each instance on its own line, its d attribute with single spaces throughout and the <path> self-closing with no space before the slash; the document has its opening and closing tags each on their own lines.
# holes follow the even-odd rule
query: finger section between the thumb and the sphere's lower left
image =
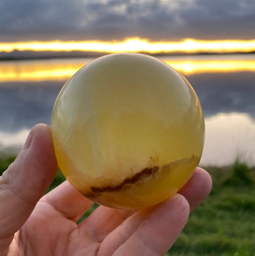
<svg viewBox="0 0 255 256">
<path fill-rule="evenodd" d="M 64 217 L 74 222 L 93 205 L 91 200 L 79 193 L 67 180 L 47 193 L 41 201 L 49 203 Z"/>
</svg>

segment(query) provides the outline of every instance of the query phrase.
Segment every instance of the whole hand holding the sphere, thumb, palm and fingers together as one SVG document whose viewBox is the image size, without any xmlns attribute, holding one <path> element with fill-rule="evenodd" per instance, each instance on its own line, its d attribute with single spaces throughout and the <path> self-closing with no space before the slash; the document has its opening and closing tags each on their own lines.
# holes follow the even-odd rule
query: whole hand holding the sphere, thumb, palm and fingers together
<svg viewBox="0 0 255 256">
<path fill-rule="evenodd" d="M 50 128 L 37 124 L 17 159 L 0 177 L 0 255 L 164 255 L 189 213 L 210 193 L 197 168 L 188 183 L 159 205 L 139 210 L 99 206 L 67 181 L 44 195 L 57 172 Z"/>
</svg>

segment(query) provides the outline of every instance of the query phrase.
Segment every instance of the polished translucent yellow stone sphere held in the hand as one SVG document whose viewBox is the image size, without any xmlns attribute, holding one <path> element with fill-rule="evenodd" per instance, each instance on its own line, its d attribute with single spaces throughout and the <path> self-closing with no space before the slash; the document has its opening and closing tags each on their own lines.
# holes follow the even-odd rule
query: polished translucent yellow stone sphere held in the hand
<svg viewBox="0 0 255 256">
<path fill-rule="evenodd" d="M 57 97 L 51 131 L 67 180 L 94 202 L 122 209 L 174 195 L 204 145 L 193 88 L 144 54 L 110 54 L 82 67 Z"/>
</svg>

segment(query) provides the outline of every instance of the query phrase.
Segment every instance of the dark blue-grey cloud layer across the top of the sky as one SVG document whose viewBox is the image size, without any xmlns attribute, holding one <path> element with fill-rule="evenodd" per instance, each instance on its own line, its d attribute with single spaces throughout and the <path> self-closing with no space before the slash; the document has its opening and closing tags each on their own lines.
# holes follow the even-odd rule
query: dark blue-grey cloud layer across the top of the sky
<svg viewBox="0 0 255 256">
<path fill-rule="evenodd" d="M 254 39 L 254 0 L 1 0 L 0 41 Z"/>
</svg>

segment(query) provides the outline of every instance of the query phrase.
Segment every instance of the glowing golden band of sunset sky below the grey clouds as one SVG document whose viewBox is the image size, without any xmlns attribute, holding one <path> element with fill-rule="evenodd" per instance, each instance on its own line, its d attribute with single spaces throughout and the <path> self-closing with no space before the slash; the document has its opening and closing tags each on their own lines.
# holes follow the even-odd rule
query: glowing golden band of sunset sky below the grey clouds
<svg viewBox="0 0 255 256">
<path fill-rule="evenodd" d="M 124 41 L 23 41 L 0 43 L 0 51 L 92 51 L 105 53 L 146 52 L 146 53 L 208 53 L 249 52 L 255 50 L 254 40 L 196 40 L 157 41 L 129 38 Z"/>
</svg>

